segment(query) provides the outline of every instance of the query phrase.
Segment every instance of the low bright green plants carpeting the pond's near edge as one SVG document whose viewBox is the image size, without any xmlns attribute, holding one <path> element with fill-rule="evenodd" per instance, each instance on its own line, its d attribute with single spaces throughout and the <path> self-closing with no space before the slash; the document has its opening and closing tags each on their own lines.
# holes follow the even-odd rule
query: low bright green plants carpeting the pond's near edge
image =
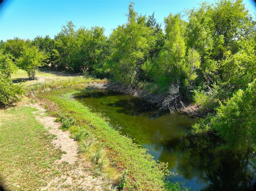
<svg viewBox="0 0 256 191">
<path fill-rule="evenodd" d="M 146 153 L 145 149 L 139 148 L 132 140 L 126 136 L 122 136 L 117 130 L 111 128 L 104 118 L 98 114 L 90 112 L 90 110 L 70 96 L 78 91 L 82 91 L 84 87 L 67 87 L 49 92 L 41 92 L 38 96 L 47 102 L 46 108 L 55 116 L 58 116 L 58 111 L 67 113 L 68 117 L 74 117 L 76 120 L 75 126 L 84 128 L 87 132 L 94 135 L 98 144 L 95 144 L 91 150 L 90 156 L 97 156 L 100 152 L 97 147 L 103 146 L 105 156 L 110 163 L 114 163 L 116 170 L 122 172 L 127 170 L 128 181 L 126 187 L 129 190 L 164 190 L 164 173 L 158 168 L 156 161 L 151 155 Z M 46 100 L 47 99 L 47 100 Z M 54 103 L 55 106 L 51 107 Z M 57 107 L 56 107 L 57 106 Z M 71 131 L 74 136 L 76 131 Z M 86 140 L 80 140 L 83 144 Z M 97 161 L 99 159 L 97 158 Z"/>
</svg>

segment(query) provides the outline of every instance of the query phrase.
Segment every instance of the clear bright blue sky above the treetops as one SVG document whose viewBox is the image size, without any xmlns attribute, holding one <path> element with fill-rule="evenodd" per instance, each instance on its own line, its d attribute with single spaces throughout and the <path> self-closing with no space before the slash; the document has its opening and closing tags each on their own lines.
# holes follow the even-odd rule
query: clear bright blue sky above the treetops
<svg viewBox="0 0 256 191">
<path fill-rule="evenodd" d="M 113 29 L 127 22 L 126 13 L 131 0 L 1 0 L 0 40 L 33 40 L 36 36 L 54 38 L 62 26 L 72 21 L 80 27 L 104 27 L 109 36 Z M 201 0 L 133 0 L 138 14 L 155 13 L 157 22 L 164 26 L 164 17 L 185 9 L 200 7 Z M 208 0 L 209 2 L 209 0 Z M 213 2 L 213 0 L 212 0 Z M 244 0 L 246 8 L 255 17 L 256 2 Z"/>
</svg>

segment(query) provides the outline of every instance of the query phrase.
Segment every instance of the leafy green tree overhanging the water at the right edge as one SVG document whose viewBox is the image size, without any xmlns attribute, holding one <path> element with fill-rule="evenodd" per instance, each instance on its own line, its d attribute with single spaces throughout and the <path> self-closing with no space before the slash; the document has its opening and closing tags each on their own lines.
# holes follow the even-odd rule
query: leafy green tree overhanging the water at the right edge
<svg viewBox="0 0 256 191">
<path fill-rule="evenodd" d="M 245 91 L 238 90 L 226 104 L 221 104 L 212 118 L 212 128 L 231 147 L 244 148 L 256 143 L 256 80 Z"/>
</svg>

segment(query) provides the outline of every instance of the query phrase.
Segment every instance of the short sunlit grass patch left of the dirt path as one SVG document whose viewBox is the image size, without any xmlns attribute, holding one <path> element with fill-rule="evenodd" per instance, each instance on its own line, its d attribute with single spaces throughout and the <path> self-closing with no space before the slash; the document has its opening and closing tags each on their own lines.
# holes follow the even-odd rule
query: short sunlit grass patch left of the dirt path
<svg viewBox="0 0 256 191">
<path fill-rule="evenodd" d="M 54 161 L 62 152 L 32 114 L 35 110 L 0 110 L 0 173 L 8 190 L 40 190 L 60 173 Z"/>
</svg>

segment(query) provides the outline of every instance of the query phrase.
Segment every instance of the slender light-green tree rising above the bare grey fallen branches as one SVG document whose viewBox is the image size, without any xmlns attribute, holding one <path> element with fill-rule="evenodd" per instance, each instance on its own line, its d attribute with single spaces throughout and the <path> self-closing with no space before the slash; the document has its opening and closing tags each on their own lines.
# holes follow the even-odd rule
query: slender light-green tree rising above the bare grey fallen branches
<svg viewBox="0 0 256 191">
<path fill-rule="evenodd" d="M 162 87 L 174 85 L 180 91 L 183 83 L 183 69 L 186 60 L 186 44 L 184 39 L 186 23 L 180 15 L 170 14 L 164 18 L 166 41 L 164 47 L 154 59 L 152 76 L 154 82 Z"/>
</svg>

